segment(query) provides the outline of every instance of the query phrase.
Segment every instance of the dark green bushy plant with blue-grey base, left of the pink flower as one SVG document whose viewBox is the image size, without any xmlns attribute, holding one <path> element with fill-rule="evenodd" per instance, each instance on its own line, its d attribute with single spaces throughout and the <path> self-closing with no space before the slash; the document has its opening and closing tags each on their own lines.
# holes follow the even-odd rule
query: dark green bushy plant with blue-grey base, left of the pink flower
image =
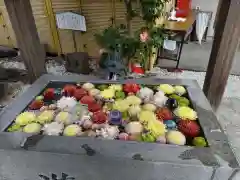
<svg viewBox="0 0 240 180">
<path fill-rule="evenodd" d="M 95 38 L 104 49 L 99 62 L 100 67 L 108 73 L 126 73 L 128 60 L 135 55 L 138 41 L 128 36 L 125 28 L 113 26 L 95 34 Z"/>
</svg>

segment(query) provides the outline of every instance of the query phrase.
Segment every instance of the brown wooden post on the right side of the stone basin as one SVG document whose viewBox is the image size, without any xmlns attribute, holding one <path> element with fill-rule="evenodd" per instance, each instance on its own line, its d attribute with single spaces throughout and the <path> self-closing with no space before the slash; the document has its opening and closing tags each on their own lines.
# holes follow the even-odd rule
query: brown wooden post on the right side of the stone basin
<svg viewBox="0 0 240 180">
<path fill-rule="evenodd" d="M 203 87 L 215 110 L 221 103 L 239 42 L 239 9 L 240 0 L 223 0 L 219 5 L 212 52 Z"/>
</svg>

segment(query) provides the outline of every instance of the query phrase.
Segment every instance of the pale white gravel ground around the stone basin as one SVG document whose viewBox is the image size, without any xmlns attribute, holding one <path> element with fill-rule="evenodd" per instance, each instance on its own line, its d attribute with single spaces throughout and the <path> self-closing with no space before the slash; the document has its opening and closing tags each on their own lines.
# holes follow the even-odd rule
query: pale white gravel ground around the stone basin
<svg viewBox="0 0 240 180">
<path fill-rule="evenodd" d="M 5 68 L 25 69 L 21 62 L 2 61 L 0 66 Z M 63 64 L 57 63 L 54 60 L 49 60 L 46 63 L 48 73 L 55 75 L 71 74 L 66 72 Z M 167 72 L 164 69 L 155 68 L 151 73 L 157 78 L 178 78 L 178 79 L 195 79 L 202 87 L 205 78 L 205 72 L 183 71 L 182 73 Z M 22 82 L 9 83 L 8 95 L 0 101 L 3 105 L 11 103 L 16 96 L 21 95 L 30 85 Z M 229 76 L 226 91 L 224 93 L 221 106 L 216 113 L 220 124 L 228 135 L 229 141 L 232 144 L 238 158 L 240 158 L 240 77 Z"/>
</svg>

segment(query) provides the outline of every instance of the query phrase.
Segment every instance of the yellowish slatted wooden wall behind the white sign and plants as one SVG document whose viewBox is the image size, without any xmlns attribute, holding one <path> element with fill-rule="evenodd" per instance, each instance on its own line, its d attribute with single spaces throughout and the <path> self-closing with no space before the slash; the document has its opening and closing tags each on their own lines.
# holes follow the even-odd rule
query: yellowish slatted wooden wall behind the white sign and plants
<svg viewBox="0 0 240 180">
<path fill-rule="evenodd" d="M 30 0 L 36 26 L 46 51 L 58 54 L 86 51 L 98 56 L 94 34 L 111 24 L 126 24 L 124 2 L 120 0 Z M 134 4 L 138 7 L 139 4 Z M 72 11 L 86 18 L 87 32 L 60 30 L 56 26 L 56 13 Z M 0 0 L 0 45 L 17 47 L 15 35 L 3 0 Z M 140 18 L 132 21 L 132 29 L 144 25 Z"/>
</svg>

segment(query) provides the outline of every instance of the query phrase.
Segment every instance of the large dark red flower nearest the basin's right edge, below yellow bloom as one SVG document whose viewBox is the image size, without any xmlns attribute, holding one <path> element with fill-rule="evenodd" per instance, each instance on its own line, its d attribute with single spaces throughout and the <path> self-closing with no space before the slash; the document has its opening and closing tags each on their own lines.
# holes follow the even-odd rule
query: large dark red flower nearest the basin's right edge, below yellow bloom
<svg viewBox="0 0 240 180">
<path fill-rule="evenodd" d="M 197 137 L 200 134 L 200 126 L 191 120 L 180 120 L 178 130 L 188 137 Z"/>
</svg>

